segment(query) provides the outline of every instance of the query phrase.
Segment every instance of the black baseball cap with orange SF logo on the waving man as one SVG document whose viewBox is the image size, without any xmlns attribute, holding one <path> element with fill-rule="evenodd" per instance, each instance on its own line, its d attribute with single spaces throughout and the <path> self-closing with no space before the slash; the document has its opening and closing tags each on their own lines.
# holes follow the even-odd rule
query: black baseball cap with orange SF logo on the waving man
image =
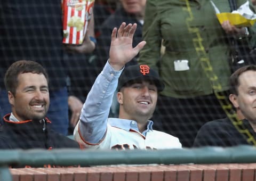
<svg viewBox="0 0 256 181">
<path fill-rule="evenodd" d="M 164 84 L 158 73 L 151 69 L 148 65 L 130 65 L 126 67 L 118 80 L 118 91 L 127 83 L 137 80 L 153 81 L 157 87 L 158 92 L 163 91 Z"/>
</svg>

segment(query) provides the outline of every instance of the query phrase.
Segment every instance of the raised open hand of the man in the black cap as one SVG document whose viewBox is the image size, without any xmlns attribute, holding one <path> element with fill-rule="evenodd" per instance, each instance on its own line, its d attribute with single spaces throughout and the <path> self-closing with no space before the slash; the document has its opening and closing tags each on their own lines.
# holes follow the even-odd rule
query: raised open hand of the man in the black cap
<svg viewBox="0 0 256 181">
<path fill-rule="evenodd" d="M 145 41 L 142 41 L 134 48 L 132 47 L 132 39 L 136 28 L 136 23 L 130 23 L 126 26 L 125 22 L 123 22 L 118 30 L 117 28 L 113 29 L 109 51 L 109 63 L 115 70 L 121 70 L 146 44 Z"/>
</svg>

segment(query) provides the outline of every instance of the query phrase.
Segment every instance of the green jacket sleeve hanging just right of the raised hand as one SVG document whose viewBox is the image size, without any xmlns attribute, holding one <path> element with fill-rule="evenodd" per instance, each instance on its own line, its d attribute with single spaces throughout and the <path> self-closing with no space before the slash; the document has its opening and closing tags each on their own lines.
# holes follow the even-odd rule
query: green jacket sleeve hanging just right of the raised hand
<svg viewBox="0 0 256 181">
<path fill-rule="evenodd" d="M 142 39 L 147 42 L 140 51 L 139 64 L 147 64 L 158 71 L 157 62 L 161 59 L 161 22 L 157 10 L 159 0 L 147 0 Z M 171 15 L 170 15 L 171 18 Z"/>
</svg>

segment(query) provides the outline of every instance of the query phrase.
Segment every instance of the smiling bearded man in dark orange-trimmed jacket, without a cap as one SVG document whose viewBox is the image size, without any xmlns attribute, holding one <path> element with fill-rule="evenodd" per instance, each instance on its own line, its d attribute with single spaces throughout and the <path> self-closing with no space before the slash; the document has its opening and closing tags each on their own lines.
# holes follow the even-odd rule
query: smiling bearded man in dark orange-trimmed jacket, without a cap
<svg viewBox="0 0 256 181">
<path fill-rule="evenodd" d="M 4 116 L 0 149 L 79 148 L 68 137 L 52 131 L 48 76 L 41 64 L 21 60 L 5 73 L 4 83 L 12 112 Z"/>
</svg>

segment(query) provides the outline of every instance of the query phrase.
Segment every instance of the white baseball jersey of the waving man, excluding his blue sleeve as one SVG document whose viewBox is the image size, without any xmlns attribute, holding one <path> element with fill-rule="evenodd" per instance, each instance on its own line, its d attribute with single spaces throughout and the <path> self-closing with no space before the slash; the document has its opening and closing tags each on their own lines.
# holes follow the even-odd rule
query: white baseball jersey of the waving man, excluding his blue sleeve
<svg viewBox="0 0 256 181">
<path fill-rule="evenodd" d="M 130 121 L 114 118 L 116 121 Z M 112 121 L 114 120 L 112 118 Z M 131 124 L 135 121 L 130 121 Z M 137 124 L 136 124 L 137 125 Z M 78 126 L 79 127 L 79 126 Z M 177 137 L 149 129 L 146 136 L 141 134 L 138 130 L 126 130 L 115 126 L 107 125 L 107 132 L 103 139 L 98 144 L 87 142 L 76 127 L 75 139 L 85 147 L 99 148 L 99 149 L 173 149 L 181 148 L 181 143 Z"/>
</svg>

